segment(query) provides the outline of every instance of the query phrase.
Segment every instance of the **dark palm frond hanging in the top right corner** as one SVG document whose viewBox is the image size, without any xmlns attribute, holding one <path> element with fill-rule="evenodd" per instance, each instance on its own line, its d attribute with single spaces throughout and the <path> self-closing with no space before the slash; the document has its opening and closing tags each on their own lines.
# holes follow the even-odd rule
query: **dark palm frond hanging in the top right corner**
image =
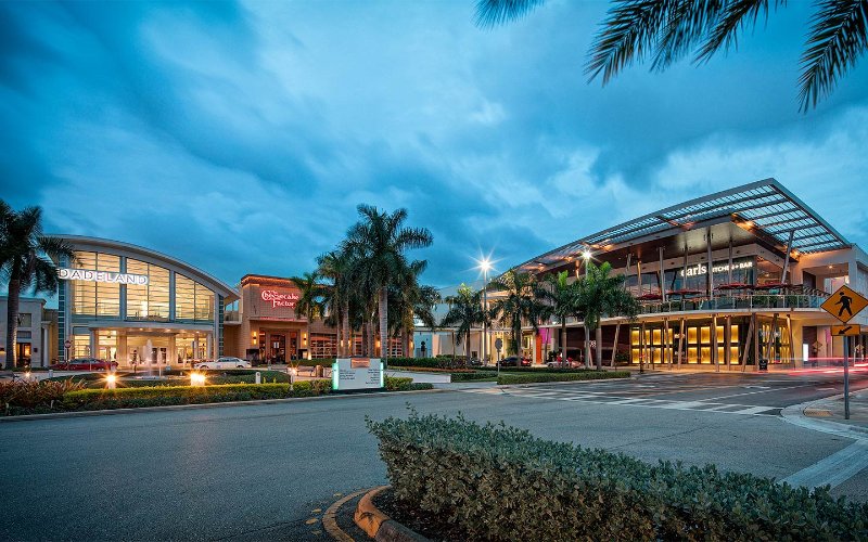
<svg viewBox="0 0 868 542">
<path fill-rule="evenodd" d="M 828 96 L 868 47 L 868 0 L 825 0 L 818 5 L 802 55 L 802 112 Z"/>
</svg>

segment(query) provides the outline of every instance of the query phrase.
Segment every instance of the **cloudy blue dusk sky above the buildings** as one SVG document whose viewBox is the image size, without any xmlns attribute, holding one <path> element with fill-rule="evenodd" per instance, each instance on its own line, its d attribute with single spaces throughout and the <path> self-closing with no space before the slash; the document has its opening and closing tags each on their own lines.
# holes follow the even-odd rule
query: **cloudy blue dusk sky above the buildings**
<svg viewBox="0 0 868 542">
<path fill-rule="evenodd" d="M 312 270 L 362 203 L 431 230 L 410 256 L 451 286 L 768 177 L 868 246 L 868 63 L 799 113 L 808 2 L 605 87 L 607 2 L 474 3 L 0 2 L 0 197 L 229 284 Z"/>
</svg>

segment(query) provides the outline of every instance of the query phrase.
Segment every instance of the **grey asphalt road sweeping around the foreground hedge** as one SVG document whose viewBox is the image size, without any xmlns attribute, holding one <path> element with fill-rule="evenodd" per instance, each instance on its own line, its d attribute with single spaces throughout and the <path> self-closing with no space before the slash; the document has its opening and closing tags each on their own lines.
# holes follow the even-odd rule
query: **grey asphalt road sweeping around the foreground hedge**
<svg viewBox="0 0 868 542">
<path fill-rule="evenodd" d="M 544 438 L 647 461 L 711 462 L 783 478 L 852 440 L 795 427 L 774 413 L 690 405 L 781 408 L 833 395 L 838 386 L 825 377 L 656 375 L 507 392 L 356 396 L 3 423 L 0 538 L 324 540 L 320 518 L 329 504 L 386 482 L 365 416 L 404 415 L 408 402 L 423 413 L 503 420 Z M 527 395 L 539 390 L 550 395 Z M 618 403 L 630 399 L 638 401 Z M 868 500 L 866 474 L 835 491 Z"/>
</svg>

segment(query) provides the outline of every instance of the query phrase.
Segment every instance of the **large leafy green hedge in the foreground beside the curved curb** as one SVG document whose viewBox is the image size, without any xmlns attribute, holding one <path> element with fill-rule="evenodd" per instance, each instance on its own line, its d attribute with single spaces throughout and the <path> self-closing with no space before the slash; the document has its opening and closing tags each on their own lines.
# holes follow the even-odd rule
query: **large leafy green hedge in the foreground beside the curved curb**
<svg viewBox="0 0 868 542">
<path fill-rule="evenodd" d="M 502 423 L 367 421 L 395 496 L 465 540 L 866 540 L 868 504 L 714 465 L 651 465 Z"/>
</svg>

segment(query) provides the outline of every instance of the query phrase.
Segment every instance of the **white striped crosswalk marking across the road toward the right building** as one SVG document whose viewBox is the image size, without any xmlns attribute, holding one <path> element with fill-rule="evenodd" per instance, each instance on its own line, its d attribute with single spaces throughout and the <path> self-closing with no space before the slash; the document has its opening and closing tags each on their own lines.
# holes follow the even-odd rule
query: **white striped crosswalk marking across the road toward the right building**
<svg viewBox="0 0 868 542">
<path fill-rule="evenodd" d="M 676 401 L 672 399 L 654 399 L 649 397 L 618 397 L 600 391 L 563 390 L 563 389 L 498 389 L 467 388 L 459 389 L 464 393 L 483 393 L 509 396 L 526 399 L 547 399 L 554 401 L 573 401 L 595 404 L 618 404 L 650 409 L 667 409 L 684 411 L 714 412 L 715 414 L 739 414 L 748 416 L 777 416 L 780 408 L 756 404 L 731 404 L 710 401 Z"/>
</svg>

